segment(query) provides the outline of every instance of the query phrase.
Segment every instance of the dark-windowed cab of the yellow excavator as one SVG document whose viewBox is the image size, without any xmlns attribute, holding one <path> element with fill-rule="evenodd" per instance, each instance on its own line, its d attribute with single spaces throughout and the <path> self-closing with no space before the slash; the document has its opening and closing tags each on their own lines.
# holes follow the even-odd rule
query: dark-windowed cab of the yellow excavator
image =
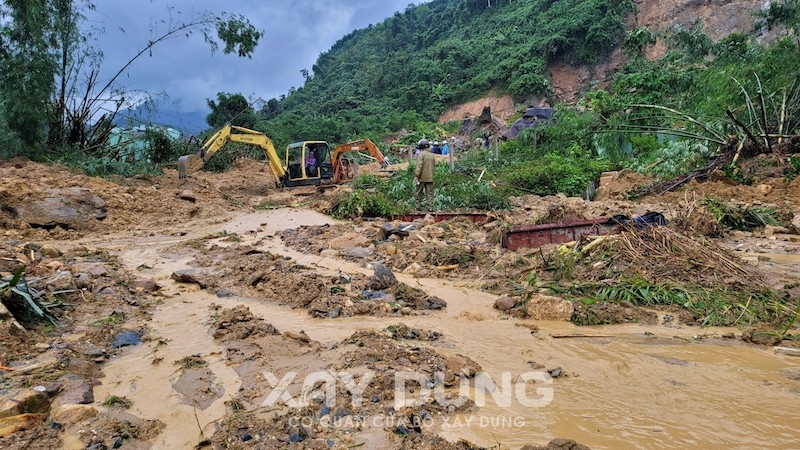
<svg viewBox="0 0 800 450">
<path fill-rule="evenodd" d="M 301 141 L 286 148 L 287 185 L 321 184 L 333 177 L 331 152 L 324 141 Z"/>
</svg>

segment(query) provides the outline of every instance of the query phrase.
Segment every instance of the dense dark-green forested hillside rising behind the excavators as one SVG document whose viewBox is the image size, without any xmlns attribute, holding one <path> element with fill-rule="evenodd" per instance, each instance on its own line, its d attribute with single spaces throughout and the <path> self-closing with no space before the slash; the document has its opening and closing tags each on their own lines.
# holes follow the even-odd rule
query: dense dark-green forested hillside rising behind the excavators
<svg viewBox="0 0 800 450">
<path fill-rule="evenodd" d="M 323 53 L 304 86 L 260 111 L 271 136 L 341 142 L 414 128 L 490 90 L 547 97 L 547 63 L 591 63 L 625 37 L 619 0 L 435 0 L 357 30 Z"/>
</svg>

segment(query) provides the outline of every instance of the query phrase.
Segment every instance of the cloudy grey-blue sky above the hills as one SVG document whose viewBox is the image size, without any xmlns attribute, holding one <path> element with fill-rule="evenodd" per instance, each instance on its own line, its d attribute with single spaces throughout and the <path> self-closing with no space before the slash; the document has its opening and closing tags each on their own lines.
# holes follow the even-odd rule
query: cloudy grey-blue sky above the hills
<svg viewBox="0 0 800 450">
<path fill-rule="evenodd" d="M 128 89 L 166 93 L 173 111 L 208 113 L 206 99 L 217 92 L 241 93 L 251 100 L 278 98 L 290 87 L 303 85 L 302 69 L 311 66 L 347 33 L 377 24 L 409 0 L 96 0 L 88 23 L 105 31 L 99 43 L 104 53 L 106 79 L 138 53 L 148 39 L 162 34 L 170 14 L 188 20 L 203 11 L 246 16 L 264 31 L 252 59 L 212 55 L 201 35 L 160 43 L 152 56 L 137 60 L 120 79 Z M 423 3 L 420 1 L 417 4 Z M 170 9 L 172 8 L 172 9 Z M 171 11 L 171 12 L 170 12 Z M 158 33 L 151 33 L 153 24 Z M 200 126 L 202 127 L 201 124 Z M 198 130 L 199 131 L 199 130 Z"/>
</svg>

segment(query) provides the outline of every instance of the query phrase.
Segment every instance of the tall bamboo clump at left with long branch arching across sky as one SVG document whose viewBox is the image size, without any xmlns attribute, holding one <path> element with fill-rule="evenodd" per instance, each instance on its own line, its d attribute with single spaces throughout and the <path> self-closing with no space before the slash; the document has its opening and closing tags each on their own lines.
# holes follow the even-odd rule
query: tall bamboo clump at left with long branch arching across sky
<svg viewBox="0 0 800 450">
<path fill-rule="evenodd" d="M 95 31 L 81 24 L 87 0 L 7 0 L 0 3 L 0 154 L 22 146 L 27 155 L 64 148 L 93 150 L 107 141 L 132 92 L 119 83 L 130 65 L 172 38 L 201 34 L 211 51 L 250 57 L 263 36 L 239 15 L 203 12 L 188 20 L 168 9 L 153 36 L 107 81 Z M 141 94 L 137 94 L 141 98 Z M 47 149 L 47 150 L 46 150 Z"/>
</svg>

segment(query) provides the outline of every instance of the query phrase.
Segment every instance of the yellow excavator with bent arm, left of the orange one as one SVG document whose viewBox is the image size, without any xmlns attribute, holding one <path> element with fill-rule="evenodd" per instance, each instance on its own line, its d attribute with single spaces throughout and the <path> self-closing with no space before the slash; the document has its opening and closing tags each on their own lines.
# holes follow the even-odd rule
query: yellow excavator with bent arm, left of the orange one
<svg viewBox="0 0 800 450">
<path fill-rule="evenodd" d="M 228 142 L 241 142 L 261 147 L 275 176 L 276 187 L 308 186 L 330 183 L 333 177 L 330 148 L 325 141 L 301 141 L 289 144 L 286 159 L 281 161 L 272 139 L 266 134 L 235 125 L 225 125 L 208 138 L 194 155 L 178 159 L 178 177 L 200 170 L 209 158 Z"/>
</svg>

